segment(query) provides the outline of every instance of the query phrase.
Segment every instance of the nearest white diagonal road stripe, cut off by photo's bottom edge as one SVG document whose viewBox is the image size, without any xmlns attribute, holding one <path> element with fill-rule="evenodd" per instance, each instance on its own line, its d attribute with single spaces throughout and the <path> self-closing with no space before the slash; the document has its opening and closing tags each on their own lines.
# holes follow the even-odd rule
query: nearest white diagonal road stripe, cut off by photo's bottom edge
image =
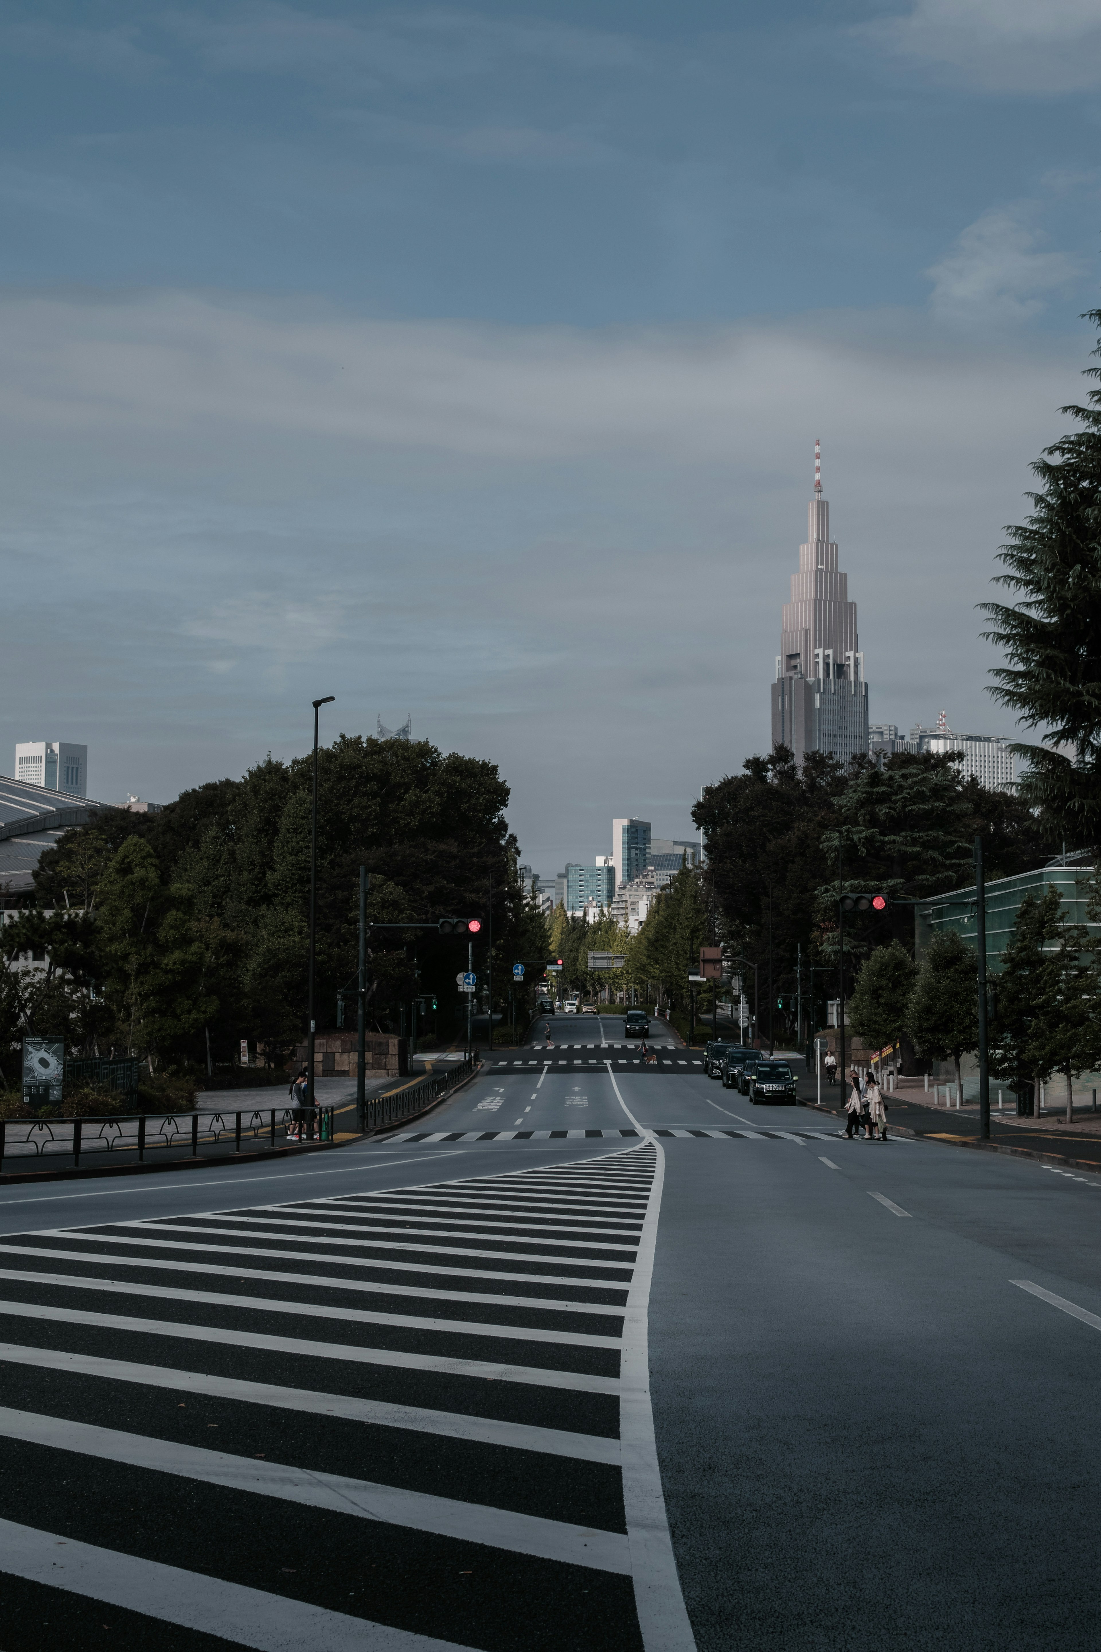
<svg viewBox="0 0 1101 1652">
<path fill-rule="evenodd" d="M 325 1652 L 470 1652 L 456 1640 L 436 1640 L 406 1629 L 347 1617 L 286 1594 L 264 1594 L 206 1573 L 139 1559 L 94 1543 L 0 1520 L 3 1569 L 28 1583 L 68 1589 L 165 1624 L 215 1635 L 254 1652 L 325 1647 Z"/>
</svg>

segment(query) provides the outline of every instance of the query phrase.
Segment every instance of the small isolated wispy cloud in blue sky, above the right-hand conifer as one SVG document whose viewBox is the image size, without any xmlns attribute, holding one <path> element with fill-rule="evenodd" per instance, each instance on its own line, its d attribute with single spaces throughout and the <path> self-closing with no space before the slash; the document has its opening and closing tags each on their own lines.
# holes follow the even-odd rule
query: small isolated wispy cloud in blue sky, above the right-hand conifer
<svg viewBox="0 0 1101 1652">
<path fill-rule="evenodd" d="M 929 302 L 939 320 L 967 327 L 1020 322 L 1080 274 L 1068 253 L 1042 249 L 1043 238 L 1027 216 L 1022 206 L 984 211 L 959 235 L 952 251 L 926 271 L 933 281 Z"/>
</svg>

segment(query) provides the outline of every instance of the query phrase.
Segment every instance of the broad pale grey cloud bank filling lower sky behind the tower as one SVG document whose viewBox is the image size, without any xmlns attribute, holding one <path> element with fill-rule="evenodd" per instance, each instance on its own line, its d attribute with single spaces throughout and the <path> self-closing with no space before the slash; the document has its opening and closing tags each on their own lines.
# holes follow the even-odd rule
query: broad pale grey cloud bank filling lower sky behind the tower
<svg viewBox="0 0 1101 1652">
<path fill-rule="evenodd" d="M 974 603 L 1089 342 L 0 294 L 0 753 L 64 725 L 101 795 L 160 800 L 300 752 L 337 694 L 333 730 L 409 710 L 499 762 L 545 871 L 647 796 L 682 836 L 768 743 L 817 434 L 875 715 L 1004 732 Z"/>
</svg>

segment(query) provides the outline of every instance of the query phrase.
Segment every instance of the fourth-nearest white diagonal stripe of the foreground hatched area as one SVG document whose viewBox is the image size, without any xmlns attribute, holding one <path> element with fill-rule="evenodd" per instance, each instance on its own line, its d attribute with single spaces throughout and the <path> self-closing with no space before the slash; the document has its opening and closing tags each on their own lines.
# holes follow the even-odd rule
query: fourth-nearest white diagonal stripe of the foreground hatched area
<svg viewBox="0 0 1101 1652">
<path fill-rule="evenodd" d="M 393 1365 L 444 1376 L 484 1376 L 499 1383 L 528 1383 L 533 1388 L 569 1388 L 583 1394 L 617 1394 L 619 1378 L 586 1376 L 581 1371 L 551 1371 L 538 1365 L 495 1365 L 492 1360 L 436 1358 L 399 1353 L 395 1348 L 355 1348 L 352 1343 L 320 1343 L 304 1336 L 262 1336 L 259 1332 L 220 1330 L 215 1325 L 187 1325 L 182 1320 L 139 1320 L 124 1313 L 91 1313 L 86 1308 L 50 1308 L 40 1302 L 5 1302 L 0 1317 L 50 1320 L 54 1325 L 97 1325 L 102 1330 L 175 1336 L 180 1341 L 228 1343 L 231 1348 L 262 1348 L 266 1353 L 300 1353 L 312 1360 L 347 1360 L 352 1365 Z"/>
</svg>

